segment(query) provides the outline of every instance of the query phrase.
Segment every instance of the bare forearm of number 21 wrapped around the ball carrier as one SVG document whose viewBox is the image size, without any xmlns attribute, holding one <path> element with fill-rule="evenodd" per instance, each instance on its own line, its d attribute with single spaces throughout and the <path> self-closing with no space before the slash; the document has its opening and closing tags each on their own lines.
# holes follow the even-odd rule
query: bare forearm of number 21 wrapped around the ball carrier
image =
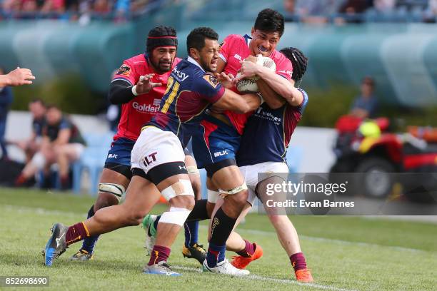
<svg viewBox="0 0 437 291">
<path fill-rule="evenodd" d="M 261 105 L 261 98 L 256 94 L 238 95 L 229 89 L 225 88 L 224 90 L 223 96 L 214 103 L 215 108 L 236 113 L 248 113 Z"/>
</svg>

